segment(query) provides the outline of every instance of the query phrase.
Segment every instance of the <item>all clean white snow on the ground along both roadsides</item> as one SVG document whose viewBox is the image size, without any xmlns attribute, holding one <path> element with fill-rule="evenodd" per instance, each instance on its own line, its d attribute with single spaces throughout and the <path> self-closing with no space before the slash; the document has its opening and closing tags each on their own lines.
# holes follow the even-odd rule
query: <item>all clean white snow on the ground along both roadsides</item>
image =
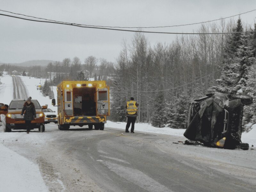
<svg viewBox="0 0 256 192">
<path fill-rule="evenodd" d="M 37 99 L 41 105 L 47 104 L 48 108 L 51 108 L 53 111 L 57 111 L 57 107 L 52 106 L 52 101 L 49 99 L 49 97 L 44 97 L 40 90 L 37 90 L 37 85 L 40 85 L 40 82 L 43 84 L 42 79 L 26 76 L 20 77 L 27 87 L 28 96 L 31 96 L 32 99 Z M 13 99 L 12 76 L 2 76 L 0 80 L 2 83 L 0 84 L 0 102 L 9 105 L 10 101 Z M 56 87 L 53 87 L 53 92 L 55 99 L 57 99 Z M 107 121 L 105 127 L 125 130 L 125 125 L 126 123 L 124 122 Z M 134 131 L 160 133 L 181 137 L 184 137 L 183 133 L 185 132 L 184 129 L 172 129 L 168 127 L 156 128 L 146 123 L 136 123 Z M 15 140 L 15 135 L 17 134 L 20 134 L 20 132 L 16 132 L 12 135 L 9 133 L 0 132 L 0 138 L 2 140 Z M 38 137 L 38 135 L 36 137 L 37 142 L 40 143 L 40 137 Z M 33 139 L 31 138 L 30 134 L 28 138 Z M 186 140 L 185 137 L 184 140 Z M 252 145 L 256 145 L 256 124 L 253 125 L 250 132 L 242 134 L 242 142 L 249 143 L 250 147 Z M 4 147 L 4 145 L 1 143 L 0 154 L 0 191 L 48 191 L 41 177 L 37 164 L 30 162 L 23 156 L 20 156 L 16 152 Z M 15 182 L 12 182 L 13 180 Z"/>
</svg>

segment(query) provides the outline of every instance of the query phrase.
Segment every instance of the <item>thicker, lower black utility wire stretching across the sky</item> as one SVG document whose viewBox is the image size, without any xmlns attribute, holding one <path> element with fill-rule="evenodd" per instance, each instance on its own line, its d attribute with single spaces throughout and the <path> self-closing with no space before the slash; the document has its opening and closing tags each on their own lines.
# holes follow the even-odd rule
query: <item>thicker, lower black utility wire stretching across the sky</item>
<svg viewBox="0 0 256 192">
<path fill-rule="evenodd" d="M 128 31 L 128 32 L 139 32 L 139 33 L 157 33 L 157 34 L 181 34 L 181 35 L 211 35 L 211 34 L 234 34 L 234 33 L 252 33 L 256 31 L 243 31 L 243 32 L 222 32 L 222 33 L 175 33 L 175 32 L 158 32 L 158 31 L 139 31 L 139 30 L 128 30 L 128 29 L 116 29 L 116 28 L 101 28 L 101 27 L 89 27 L 89 26 L 82 26 L 75 23 L 67 23 L 67 22 L 56 22 L 56 21 L 46 21 L 46 20 L 35 20 L 35 19 L 28 19 L 22 18 L 18 16 L 6 15 L 0 13 L 0 15 L 22 19 L 22 20 L 29 20 L 29 21 L 36 21 L 36 22 L 43 22 L 43 23 L 54 23 L 54 24 L 61 24 L 61 25 L 71 25 L 75 27 L 81 28 L 94 28 L 94 29 L 106 29 L 106 30 L 115 30 L 115 31 Z"/>
</svg>

